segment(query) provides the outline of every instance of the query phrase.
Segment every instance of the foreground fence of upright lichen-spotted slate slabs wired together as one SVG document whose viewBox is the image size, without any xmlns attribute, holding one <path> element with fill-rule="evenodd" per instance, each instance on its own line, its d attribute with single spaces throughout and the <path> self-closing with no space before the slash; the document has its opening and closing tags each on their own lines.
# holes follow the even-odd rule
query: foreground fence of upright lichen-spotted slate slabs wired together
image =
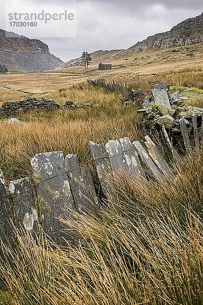
<svg viewBox="0 0 203 305">
<path fill-rule="evenodd" d="M 192 156 L 194 149 L 184 118 L 180 119 L 180 125 L 186 153 Z M 203 143 L 203 124 L 199 134 L 195 115 L 193 126 L 195 146 L 199 147 L 200 141 Z M 178 163 L 179 154 L 164 126 L 162 135 L 174 162 Z M 114 179 L 126 177 L 133 183 L 142 184 L 150 176 L 163 186 L 173 185 L 173 169 L 166 163 L 151 138 L 146 136 L 145 140 L 146 148 L 139 141 L 131 143 L 127 137 L 119 141 L 110 140 L 106 145 L 89 143 L 100 187 L 107 202 L 115 196 L 109 175 L 113 175 Z M 38 154 L 31 158 L 30 164 L 33 180 L 25 177 L 10 181 L 8 188 L 0 170 L 0 237 L 4 243 L 12 243 L 13 226 L 38 234 L 40 224 L 47 236 L 62 243 L 64 238 L 72 238 L 72 234 L 60 219 L 73 219 L 75 211 L 96 216 L 99 210 L 90 170 L 87 166 L 80 167 L 77 155 L 67 155 L 64 158 L 62 151 Z"/>
</svg>

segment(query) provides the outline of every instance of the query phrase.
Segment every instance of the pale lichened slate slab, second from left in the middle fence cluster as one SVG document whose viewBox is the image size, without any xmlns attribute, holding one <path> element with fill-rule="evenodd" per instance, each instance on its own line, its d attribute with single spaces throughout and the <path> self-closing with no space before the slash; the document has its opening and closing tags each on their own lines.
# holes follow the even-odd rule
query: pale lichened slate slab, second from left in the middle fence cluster
<svg viewBox="0 0 203 305">
<path fill-rule="evenodd" d="M 121 144 L 118 140 L 110 140 L 106 144 L 112 169 L 115 171 L 127 170 L 127 161 L 123 154 Z"/>
</svg>

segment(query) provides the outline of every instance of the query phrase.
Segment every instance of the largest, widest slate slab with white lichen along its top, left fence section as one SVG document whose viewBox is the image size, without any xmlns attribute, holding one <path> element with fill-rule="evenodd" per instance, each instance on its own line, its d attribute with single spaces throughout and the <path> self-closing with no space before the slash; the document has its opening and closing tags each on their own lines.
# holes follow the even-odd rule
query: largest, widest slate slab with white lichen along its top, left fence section
<svg viewBox="0 0 203 305">
<path fill-rule="evenodd" d="M 40 212 L 44 231 L 55 241 L 71 238 L 63 230 L 67 226 L 58 220 L 72 217 L 74 200 L 71 193 L 62 151 L 38 154 L 31 159 Z"/>
</svg>

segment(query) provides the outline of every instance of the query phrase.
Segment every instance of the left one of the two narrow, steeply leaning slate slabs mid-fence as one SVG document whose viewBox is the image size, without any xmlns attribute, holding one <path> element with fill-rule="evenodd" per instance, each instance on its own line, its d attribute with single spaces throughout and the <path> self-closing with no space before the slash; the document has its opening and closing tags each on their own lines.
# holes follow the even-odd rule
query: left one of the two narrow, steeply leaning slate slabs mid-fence
<svg viewBox="0 0 203 305">
<path fill-rule="evenodd" d="M 153 176 L 157 179 L 157 181 L 160 182 L 161 184 L 165 184 L 166 180 L 165 180 L 164 176 L 158 170 L 158 168 L 154 164 L 153 160 L 147 154 L 147 151 L 141 145 L 141 143 L 139 141 L 134 141 L 132 144 L 136 148 L 137 153 L 140 156 L 140 158 L 142 159 L 142 161 L 147 165 L 148 169 L 153 174 Z"/>
</svg>

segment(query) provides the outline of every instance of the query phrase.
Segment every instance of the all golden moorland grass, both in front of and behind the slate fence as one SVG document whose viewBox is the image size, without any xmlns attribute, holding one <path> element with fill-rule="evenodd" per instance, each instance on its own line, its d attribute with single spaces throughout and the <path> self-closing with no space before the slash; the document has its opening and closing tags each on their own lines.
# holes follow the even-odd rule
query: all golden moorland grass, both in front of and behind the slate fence
<svg viewBox="0 0 203 305">
<path fill-rule="evenodd" d="M 128 73 L 122 78 L 118 75 L 117 79 L 146 91 L 159 81 L 202 87 L 198 64 L 193 70 L 161 71 L 158 66 L 157 71 L 153 69 L 149 67 L 146 76 Z M 46 74 L 38 75 L 38 81 L 42 82 L 43 75 Z M 20 85 L 30 88 L 35 77 L 23 75 Z M 49 87 L 47 93 L 41 92 L 37 97 L 54 98 L 61 104 L 66 100 L 93 102 L 97 107 L 19 114 L 22 125 L 9 125 L 1 120 L 0 167 L 7 180 L 25 177 L 31 174 L 32 156 L 63 150 L 64 155 L 79 155 L 80 164 L 90 167 L 96 184 L 88 141 L 106 143 L 124 136 L 143 139 L 144 131 L 138 129 L 139 105 L 123 108 L 123 97 L 119 95 L 86 85 L 83 90 L 81 85 L 72 88 L 65 81 L 65 85 L 57 83 L 57 89 L 52 91 L 49 77 L 44 78 L 49 82 L 48 86 L 44 82 Z M 7 94 L 4 91 L 1 98 L 15 98 Z M 183 158 L 174 167 L 173 186 L 159 186 L 153 181 L 141 185 L 124 179 L 115 181 L 116 198 L 111 198 L 108 206 L 100 210 L 99 218 L 83 215 L 65 220 L 77 233 L 77 238 L 67 242 L 65 249 L 56 245 L 54 250 L 49 248 L 44 236 L 36 243 L 26 234 L 16 232 L 18 252 L 4 247 L 7 259 L 0 263 L 0 303 L 202 304 L 202 157 L 201 148 L 194 151 L 192 158 Z"/>
</svg>

